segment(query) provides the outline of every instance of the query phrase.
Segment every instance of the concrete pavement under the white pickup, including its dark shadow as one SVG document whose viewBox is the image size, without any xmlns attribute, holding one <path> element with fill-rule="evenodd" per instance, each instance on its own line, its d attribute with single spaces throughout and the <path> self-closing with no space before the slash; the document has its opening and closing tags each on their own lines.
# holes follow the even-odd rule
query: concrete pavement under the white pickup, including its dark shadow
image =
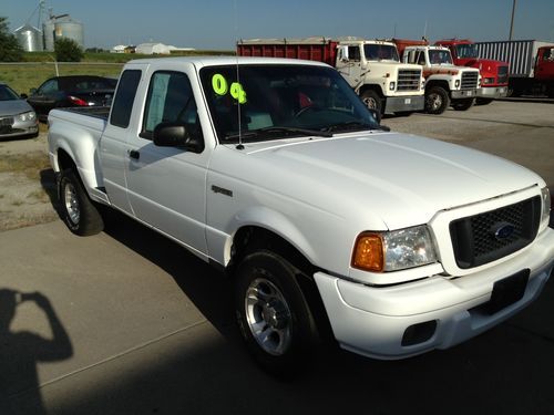
<svg viewBox="0 0 554 415">
<path fill-rule="evenodd" d="M 304 376 L 278 382 L 236 336 L 228 281 L 110 217 L 90 238 L 61 221 L 0 234 L 3 298 L 40 292 L 55 314 L 31 295 L 0 332 L 0 414 L 554 411 L 552 281 L 523 313 L 452 350 L 399 362 L 322 352 Z"/>
</svg>

